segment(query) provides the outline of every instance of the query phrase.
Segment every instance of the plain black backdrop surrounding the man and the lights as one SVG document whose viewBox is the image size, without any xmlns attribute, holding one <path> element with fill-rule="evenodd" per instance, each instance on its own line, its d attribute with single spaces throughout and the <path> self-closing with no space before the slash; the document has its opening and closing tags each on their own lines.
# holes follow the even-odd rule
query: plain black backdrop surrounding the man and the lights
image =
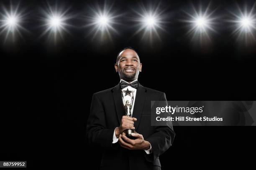
<svg viewBox="0 0 256 170">
<path fill-rule="evenodd" d="M 70 13 L 77 17 L 70 23 L 79 27 L 69 27 L 70 34 L 54 43 L 46 37 L 38 39 L 44 28 L 38 27 L 40 21 L 35 18 L 45 1 L 21 1 L 20 8 L 31 11 L 24 24 L 29 32 L 14 43 L 2 43 L 4 35 L 0 36 L 1 160 L 26 160 L 31 169 L 99 168 L 100 149 L 90 148 L 84 140 L 90 102 L 94 92 L 118 83 L 114 63 L 118 51 L 126 46 L 135 48 L 143 63 L 139 82 L 165 92 L 167 100 L 256 100 L 256 44 L 237 42 L 225 23 L 217 25 L 217 34 L 210 34 L 212 43 L 191 42 L 185 36 L 188 29 L 178 21 L 190 2 L 196 7 L 200 4 L 162 1 L 160 7 L 166 8 L 164 15 L 169 18 L 164 25 L 167 32 L 159 33 L 161 40 L 150 42 L 141 40 L 143 32 L 133 36 L 136 28 L 127 16 L 140 9 L 135 1 L 114 3 L 112 11 L 124 13 L 115 25 L 119 35 L 104 41 L 86 36 L 88 28 L 80 27 L 86 22 L 78 17 L 88 14 L 88 5 L 102 6 L 103 1 L 59 1 L 59 6 L 71 7 Z M 228 17 L 227 9 L 236 10 L 235 2 L 217 0 L 211 7 L 218 7 L 216 15 L 221 20 Z M 247 3 L 251 7 L 253 1 Z M 235 168 L 251 163 L 250 154 L 255 152 L 254 127 L 174 127 L 174 131 L 172 147 L 160 157 L 164 170 L 174 166 Z"/>
</svg>

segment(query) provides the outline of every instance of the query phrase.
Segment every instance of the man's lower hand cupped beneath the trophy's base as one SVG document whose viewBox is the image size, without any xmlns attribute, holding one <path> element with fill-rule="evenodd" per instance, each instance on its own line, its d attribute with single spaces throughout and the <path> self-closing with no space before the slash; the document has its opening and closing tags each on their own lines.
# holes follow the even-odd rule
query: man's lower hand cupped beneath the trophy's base
<svg viewBox="0 0 256 170">
<path fill-rule="evenodd" d="M 136 137 L 136 140 L 132 140 L 126 137 L 125 133 L 119 135 L 119 143 L 123 148 L 128 150 L 148 150 L 150 143 L 144 140 L 143 135 L 139 133 L 132 133 L 132 136 Z"/>
</svg>

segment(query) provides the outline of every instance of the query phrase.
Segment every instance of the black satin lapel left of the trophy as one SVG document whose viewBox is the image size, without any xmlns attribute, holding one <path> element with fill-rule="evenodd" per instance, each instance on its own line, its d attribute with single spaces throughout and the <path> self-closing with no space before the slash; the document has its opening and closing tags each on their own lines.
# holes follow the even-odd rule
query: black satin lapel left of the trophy
<svg viewBox="0 0 256 170">
<path fill-rule="evenodd" d="M 112 95 L 115 102 L 115 111 L 117 113 L 118 121 L 120 124 L 122 116 L 125 115 L 125 109 L 123 108 L 121 88 L 119 84 L 112 89 Z"/>
</svg>

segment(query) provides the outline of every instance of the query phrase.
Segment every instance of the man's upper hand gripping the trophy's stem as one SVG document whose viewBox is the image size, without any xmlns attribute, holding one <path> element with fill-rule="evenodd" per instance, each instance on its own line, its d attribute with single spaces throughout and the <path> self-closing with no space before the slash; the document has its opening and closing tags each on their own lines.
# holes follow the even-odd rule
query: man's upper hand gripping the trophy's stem
<svg viewBox="0 0 256 170">
<path fill-rule="evenodd" d="M 118 138 L 119 135 L 122 134 L 126 129 L 135 129 L 133 125 L 136 120 L 137 119 L 135 117 L 123 116 L 120 122 L 120 126 L 115 129 L 116 138 Z"/>
</svg>

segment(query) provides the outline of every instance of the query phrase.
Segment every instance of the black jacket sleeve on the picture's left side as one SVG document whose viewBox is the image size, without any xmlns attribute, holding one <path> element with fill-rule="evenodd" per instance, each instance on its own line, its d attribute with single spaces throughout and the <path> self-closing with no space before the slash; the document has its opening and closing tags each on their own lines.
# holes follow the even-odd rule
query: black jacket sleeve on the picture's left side
<svg viewBox="0 0 256 170">
<path fill-rule="evenodd" d="M 92 96 L 90 115 L 87 121 L 87 140 L 89 145 L 112 148 L 115 128 L 106 128 L 106 117 L 102 102 L 97 95 Z"/>
</svg>

